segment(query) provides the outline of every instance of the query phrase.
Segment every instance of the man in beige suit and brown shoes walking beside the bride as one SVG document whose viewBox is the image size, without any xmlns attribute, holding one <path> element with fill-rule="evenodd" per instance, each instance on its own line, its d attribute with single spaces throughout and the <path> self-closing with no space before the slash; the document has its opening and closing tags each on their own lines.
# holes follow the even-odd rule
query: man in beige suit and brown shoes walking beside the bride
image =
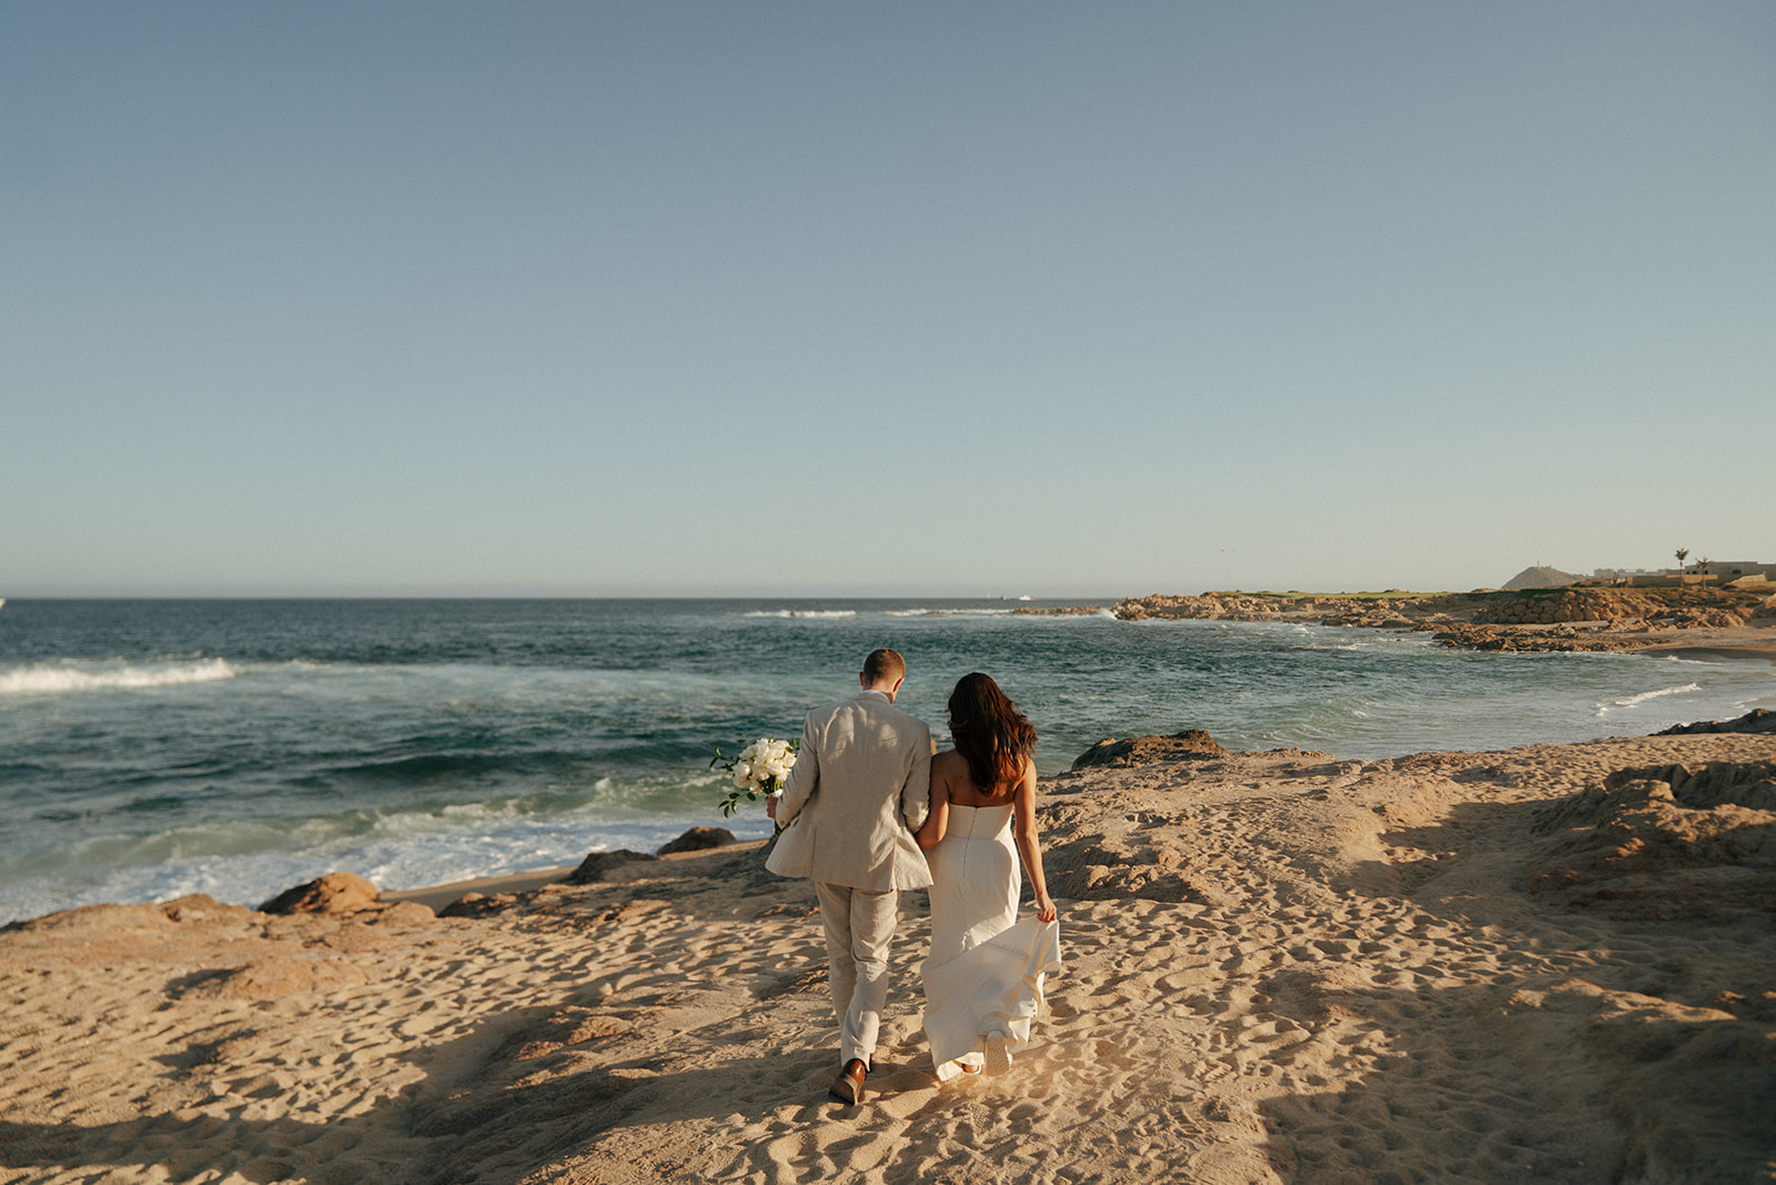
<svg viewBox="0 0 1776 1185">
<path fill-rule="evenodd" d="M 812 876 L 826 924 L 828 982 L 838 1014 L 833 1098 L 863 1101 L 888 998 L 888 947 L 900 890 L 931 885 L 913 833 L 931 807 L 931 728 L 893 705 L 906 661 L 872 650 L 861 695 L 808 712 L 783 798 L 765 812 L 787 828 L 765 867 Z"/>
</svg>

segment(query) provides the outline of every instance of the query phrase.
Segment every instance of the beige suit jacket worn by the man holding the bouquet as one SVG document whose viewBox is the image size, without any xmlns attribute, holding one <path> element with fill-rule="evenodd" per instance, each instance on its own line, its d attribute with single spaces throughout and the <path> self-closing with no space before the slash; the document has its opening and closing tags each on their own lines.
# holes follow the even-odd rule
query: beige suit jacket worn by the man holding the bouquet
<svg viewBox="0 0 1776 1185">
<path fill-rule="evenodd" d="M 765 867 L 870 892 L 931 885 L 913 831 L 931 810 L 931 728 L 865 691 L 808 712 Z"/>
</svg>

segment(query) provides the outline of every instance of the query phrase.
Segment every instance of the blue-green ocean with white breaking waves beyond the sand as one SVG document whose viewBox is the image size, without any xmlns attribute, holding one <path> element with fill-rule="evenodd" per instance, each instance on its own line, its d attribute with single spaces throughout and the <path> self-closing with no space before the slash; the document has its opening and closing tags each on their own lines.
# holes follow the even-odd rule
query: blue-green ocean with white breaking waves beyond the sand
<svg viewBox="0 0 1776 1185">
<path fill-rule="evenodd" d="M 1112 604 L 1114 597 L 1101 604 Z M 1051 602 L 1030 602 L 1044 608 Z M 382 888 L 654 849 L 725 819 L 716 748 L 796 736 L 881 645 L 900 705 L 991 673 L 1043 773 L 1103 737 L 1378 759 L 1776 707 L 1767 663 L 1018 615 L 1003 600 L 20 600 L 0 608 L 0 922 L 323 872 Z"/>
</svg>

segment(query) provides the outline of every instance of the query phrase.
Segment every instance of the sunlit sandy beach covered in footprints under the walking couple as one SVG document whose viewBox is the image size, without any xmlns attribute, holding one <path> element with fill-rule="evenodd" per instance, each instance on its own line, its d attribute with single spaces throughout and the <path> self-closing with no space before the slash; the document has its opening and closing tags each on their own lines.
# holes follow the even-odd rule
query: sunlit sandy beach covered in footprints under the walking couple
<svg viewBox="0 0 1776 1185">
<path fill-rule="evenodd" d="M 1776 1173 L 1776 736 L 1044 782 L 1066 970 L 940 1087 L 904 901 L 826 1100 L 760 844 L 274 917 L 0 933 L 0 1181 L 1751 1181 Z"/>
</svg>

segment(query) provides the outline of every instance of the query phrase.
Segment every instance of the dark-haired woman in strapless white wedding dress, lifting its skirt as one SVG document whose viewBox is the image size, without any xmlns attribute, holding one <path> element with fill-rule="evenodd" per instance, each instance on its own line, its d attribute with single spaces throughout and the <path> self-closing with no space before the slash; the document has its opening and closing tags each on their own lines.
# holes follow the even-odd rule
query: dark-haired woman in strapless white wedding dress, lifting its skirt
<svg viewBox="0 0 1776 1185">
<path fill-rule="evenodd" d="M 987 675 L 950 693 L 955 748 L 931 759 L 925 1039 L 938 1078 L 1002 1073 L 1030 1039 L 1043 977 L 1060 970 L 1060 927 L 1035 835 L 1035 728 Z M 1035 919 L 1018 922 L 1018 856 Z"/>
</svg>

